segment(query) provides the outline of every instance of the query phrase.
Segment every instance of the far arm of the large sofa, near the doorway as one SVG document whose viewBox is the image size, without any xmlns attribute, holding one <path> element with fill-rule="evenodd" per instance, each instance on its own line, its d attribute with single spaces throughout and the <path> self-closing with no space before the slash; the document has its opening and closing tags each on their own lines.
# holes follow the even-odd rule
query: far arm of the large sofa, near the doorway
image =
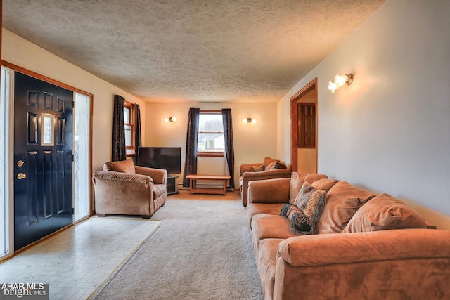
<svg viewBox="0 0 450 300">
<path fill-rule="evenodd" d="M 248 203 L 289 203 L 290 178 L 250 181 Z"/>
</svg>

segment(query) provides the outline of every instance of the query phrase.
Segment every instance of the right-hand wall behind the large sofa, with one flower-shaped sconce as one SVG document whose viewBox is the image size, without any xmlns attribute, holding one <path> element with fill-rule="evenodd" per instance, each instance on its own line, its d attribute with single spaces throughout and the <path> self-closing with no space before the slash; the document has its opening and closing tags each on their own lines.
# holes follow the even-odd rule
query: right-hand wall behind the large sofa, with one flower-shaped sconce
<svg viewBox="0 0 450 300">
<path fill-rule="evenodd" d="M 317 77 L 319 173 L 450 229 L 449 14 L 450 1 L 388 0 L 278 102 L 278 156 L 290 157 L 289 99 Z"/>
</svg>

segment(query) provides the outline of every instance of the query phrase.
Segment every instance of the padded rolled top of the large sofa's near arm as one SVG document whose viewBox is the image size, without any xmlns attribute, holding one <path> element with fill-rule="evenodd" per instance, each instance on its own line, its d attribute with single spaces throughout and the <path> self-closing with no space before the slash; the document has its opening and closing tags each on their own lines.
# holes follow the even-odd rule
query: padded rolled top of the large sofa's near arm
<svg viewBox="0 0 450 300">
<path fill-rule="evenodd" d="M 290 237 L 278 245 L 278 258 L 294 267 L 392 259 L 450 258 L 450 231 L 392 229 Z"/>
</svg>

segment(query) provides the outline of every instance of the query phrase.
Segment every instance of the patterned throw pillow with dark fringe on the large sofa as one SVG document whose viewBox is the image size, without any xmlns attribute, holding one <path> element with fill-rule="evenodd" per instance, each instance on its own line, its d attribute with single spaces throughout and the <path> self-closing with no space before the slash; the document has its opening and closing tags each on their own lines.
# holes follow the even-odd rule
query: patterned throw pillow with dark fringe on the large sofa
<svg viewBox="0 0 450 300">
<path fill-rule="evenodd" d="M 294 233 L 311 235 L 317 233 L 316 224 L 325 207 L 327 193 L 317 190 L 308 182 L 304 182 L 295 204 L 285 204 L 281 215 L 288 217 L 290 227 Z"/>
</svg>

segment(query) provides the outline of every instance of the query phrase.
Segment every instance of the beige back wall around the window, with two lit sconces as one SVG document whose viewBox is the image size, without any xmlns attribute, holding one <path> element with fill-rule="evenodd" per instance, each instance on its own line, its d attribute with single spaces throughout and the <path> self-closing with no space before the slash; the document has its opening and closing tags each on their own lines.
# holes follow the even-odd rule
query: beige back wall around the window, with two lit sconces
<svg viewBox="0 0 450 300">
<path fill-rule="evenodd" d="M 146 143 L 143 145 L 181 147 L 181 174 L 184 171 L 190 107 L 203 110 L 231 108 L 236 188 L 240 164 L 263 162 L 266 156 L 276 157 L 276 103 L 147 103 Z M 176 117 L 177 121 L 166 123 L 166 117 Z M 257 122 L 244 124 L 243 119 L 248 117 L 257 119 Z M 226 172 L 228 169 L 223 157 L 198 158 L 198 174 L 221 175 Z"/>
</svg>

